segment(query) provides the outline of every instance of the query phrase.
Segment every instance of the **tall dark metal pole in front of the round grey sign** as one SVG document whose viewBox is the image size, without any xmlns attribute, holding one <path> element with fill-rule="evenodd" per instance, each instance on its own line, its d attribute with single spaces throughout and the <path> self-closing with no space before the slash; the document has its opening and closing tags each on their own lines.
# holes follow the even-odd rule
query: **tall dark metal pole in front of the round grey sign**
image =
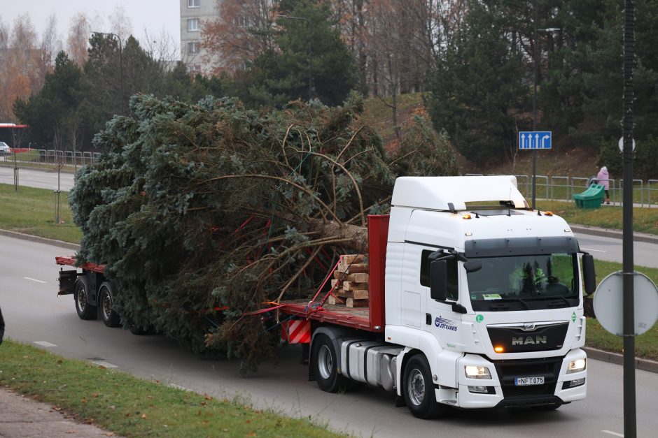
<svg viewBox="0 0 658 438">
<path fill-rule="evenodd" d="M 635 395 L 635 321 L 633 302 L 633 59 L 635 8 L 626 0 L 624 23 L 624 437 L 637 436 Z"/>
</svg>

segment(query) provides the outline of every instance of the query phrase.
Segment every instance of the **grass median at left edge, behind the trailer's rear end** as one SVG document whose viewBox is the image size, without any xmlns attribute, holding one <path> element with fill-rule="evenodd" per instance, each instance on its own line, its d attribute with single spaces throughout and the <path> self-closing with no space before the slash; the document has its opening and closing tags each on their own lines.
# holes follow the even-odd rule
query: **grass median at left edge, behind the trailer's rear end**
<svg viewBox="0 0 658 438">
<path fill-rule="evenodd" d="M 82 233 L 73 224 L 67 200 L 68 193 L 60 194 L 60 223 L 55 224 L 55 194 L 52 190 L 0 184 L 0 228 L 42 238 L 78 243 Z"/>
</svg>

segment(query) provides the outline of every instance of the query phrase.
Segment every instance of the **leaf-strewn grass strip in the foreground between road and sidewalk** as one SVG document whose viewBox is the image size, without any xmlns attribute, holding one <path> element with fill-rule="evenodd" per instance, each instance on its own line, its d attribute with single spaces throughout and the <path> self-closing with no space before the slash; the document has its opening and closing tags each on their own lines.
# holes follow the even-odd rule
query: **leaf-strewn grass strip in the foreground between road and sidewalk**
<svg viewBox="0 0 658 438">
<path fill-rule="evenodd" d="M 0 385 L 126 437 L 344 436 L 309 418 L 216 400 L 18 342 L 0 347 Z"/>
</svg>

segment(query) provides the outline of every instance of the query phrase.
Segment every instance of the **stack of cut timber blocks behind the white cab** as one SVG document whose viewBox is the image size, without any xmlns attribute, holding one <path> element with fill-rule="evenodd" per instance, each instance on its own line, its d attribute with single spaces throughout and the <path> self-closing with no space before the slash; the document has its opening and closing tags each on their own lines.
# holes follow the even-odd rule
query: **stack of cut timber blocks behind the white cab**
<svg viewBox="0 0 658 438">
<path fill-rule="evenodd" d="M 367 307 L 368 265 L 365 256 L 346 254 L 342 257 L 331 280 L 332 293 L 328 303 L 346 307 Z"/>
</svg>

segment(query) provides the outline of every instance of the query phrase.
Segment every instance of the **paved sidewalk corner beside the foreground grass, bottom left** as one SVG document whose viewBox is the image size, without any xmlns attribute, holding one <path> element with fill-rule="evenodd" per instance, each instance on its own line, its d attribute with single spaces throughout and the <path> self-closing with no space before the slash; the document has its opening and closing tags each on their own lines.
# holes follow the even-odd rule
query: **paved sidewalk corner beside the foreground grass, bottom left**
<svg viewBox="0 0 658 438">
<path fill-rule="evenodd" d="M 0 387 L 0 438 L 116 436 L 94 425 L 76 423 L 49 404 Z"/>
</svg>

